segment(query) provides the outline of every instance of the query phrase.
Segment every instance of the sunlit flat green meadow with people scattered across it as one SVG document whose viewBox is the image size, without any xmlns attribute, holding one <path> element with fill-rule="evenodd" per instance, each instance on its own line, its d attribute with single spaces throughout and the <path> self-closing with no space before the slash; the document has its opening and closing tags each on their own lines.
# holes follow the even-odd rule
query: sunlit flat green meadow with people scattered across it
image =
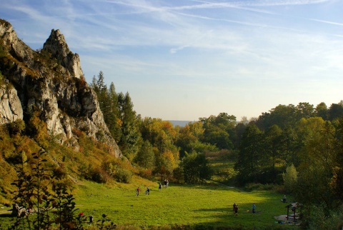
<svg viewBox="0 0 343 230">
<path fill-rule="evenodd" d="M 76 207 L 86 216 L 101 219 L 106 214 L 118 226 L 150 229 L 156 226 L 194 226 L 195 229 L 289 229 L 295 226 L 275 223 L 274 216 L 287 214 L 281 195 L 271 191 L 244 192 L 227 186 L 179 186 L 169 184 L 158 190 L 158 184 L 139 181 L 141 194 L 136 196 L 133 184 L 107 186 L 81 181 L 74 191 Z M 145 195 L 146 186 L 151 191 Z M 239 205 L 234 216 L 232 204 Z M 252 204 L 257 213 L 252 214 Z M 4 223 L 9 217 L 0 216 Z M 0 221 L 1 222 L 1 221 Z"/>
</svg>

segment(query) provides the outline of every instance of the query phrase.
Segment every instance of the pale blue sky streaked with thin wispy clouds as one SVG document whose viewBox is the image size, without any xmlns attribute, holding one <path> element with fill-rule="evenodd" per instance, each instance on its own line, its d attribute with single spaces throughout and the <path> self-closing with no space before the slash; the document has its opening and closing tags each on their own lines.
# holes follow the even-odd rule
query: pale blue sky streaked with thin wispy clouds
<svg viewBox="0 0 343 230">
<path fill-rule="evenodd" d="M 343 99 L 343 1 L 0 0 L 40 49 L 60 29 L 86 80 L 129 92 L 142 117 L 237 120 Z"/>
</svg>

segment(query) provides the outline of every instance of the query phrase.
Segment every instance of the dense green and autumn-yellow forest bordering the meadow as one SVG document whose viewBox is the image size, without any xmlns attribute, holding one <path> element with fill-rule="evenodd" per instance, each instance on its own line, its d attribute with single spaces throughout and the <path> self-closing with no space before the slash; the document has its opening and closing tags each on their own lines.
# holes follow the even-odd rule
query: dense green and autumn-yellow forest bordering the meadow
<svg viewBox="0 0 343 230">
<path fill-rule="evenodd" d="M 207 155 L 229 153 L 234 173 L 221 182 L 273 184 L 302 204 L 304 226 L 324 216 L 334 221 L 342 210 L 343 101 L 329 107 L 280 104 L 242 121 L 223 112 L 174 127 L 169 121 L 141 118 L 129 93 L 116 93 L 113 83 L 108 88 L 104 82 L 100 71 L 91 87 L 106 124 L 124 156 L 145 176 L 201 183 L 216 173 Z"/>
</svg>

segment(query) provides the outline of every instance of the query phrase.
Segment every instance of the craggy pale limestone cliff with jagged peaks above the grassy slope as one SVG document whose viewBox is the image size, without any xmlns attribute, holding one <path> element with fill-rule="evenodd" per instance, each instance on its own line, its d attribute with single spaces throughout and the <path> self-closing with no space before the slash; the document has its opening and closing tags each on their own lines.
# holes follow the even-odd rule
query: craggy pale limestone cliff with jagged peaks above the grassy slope
<svg viewBox="0 0 343 230">
<path fill-rule="evenodd" d="M 18 39 L 11 24 L 0 20 L 0 124 L 24 121 L 39 111 L 49 133 L 78 148 L 73 129 L 104 141 L 121 156 L 109 134 L 95 92 L 84 80 L 79 55 L 59 30 L 52 30 L 41 51 Z"/>
</svg>

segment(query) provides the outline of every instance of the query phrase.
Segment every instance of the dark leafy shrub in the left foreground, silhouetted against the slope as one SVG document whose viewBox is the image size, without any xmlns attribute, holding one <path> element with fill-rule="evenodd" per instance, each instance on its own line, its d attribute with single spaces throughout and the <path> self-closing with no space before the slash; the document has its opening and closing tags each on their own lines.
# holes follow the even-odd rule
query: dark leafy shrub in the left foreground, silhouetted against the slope
<svg viewBox="0 0 343 230">
<path fill-rule="evenodd" d="M 66 226 L 81 229 L 76 228 L 81 225 L 75 218 L 74 197 L 67 192 L 68 186 L 51 175 L 51 169 L 46 167 L 46 152 L 33 153 L 31 159 L 23 157 L 16 167 L 18 178 L 12 184 L 16 186 L 15 204 L 36 210 L 36 214 L 20 211 L 14 216 L 9 229 L 51 229 L 54 224 L 58 224 L 60 229 L 66 229 Z M 51 215 L 52 209 L 54 216 Z"/>
</svg>

